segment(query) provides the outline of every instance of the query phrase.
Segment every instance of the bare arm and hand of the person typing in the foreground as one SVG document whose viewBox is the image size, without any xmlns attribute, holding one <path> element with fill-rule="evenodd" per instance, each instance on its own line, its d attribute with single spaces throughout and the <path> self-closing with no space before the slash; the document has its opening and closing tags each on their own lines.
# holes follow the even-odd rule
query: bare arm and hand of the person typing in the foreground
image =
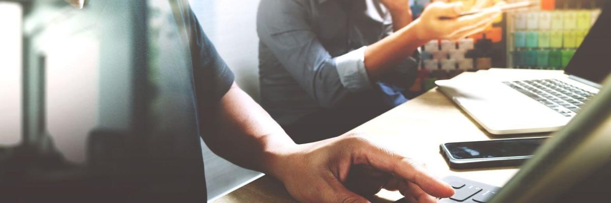
<svg viewBox="0 0 611 203">
<path fill-rule="evenodd" d="M 237 165 L 276 177 L 298 201 L 368 202 L 345 187 L 349 171 L 362 165 L 394 174 L 404 183 L 397 188 L 419 202 L 435 202 L 434 197 L 453 194 L 449 185 L 428 174 L 420 163 L 358 135 L 295 144 L 235 84 L 223 96 L 220 108 L 218 134 L 204 137 L 210 149 Z"/>
</svg>

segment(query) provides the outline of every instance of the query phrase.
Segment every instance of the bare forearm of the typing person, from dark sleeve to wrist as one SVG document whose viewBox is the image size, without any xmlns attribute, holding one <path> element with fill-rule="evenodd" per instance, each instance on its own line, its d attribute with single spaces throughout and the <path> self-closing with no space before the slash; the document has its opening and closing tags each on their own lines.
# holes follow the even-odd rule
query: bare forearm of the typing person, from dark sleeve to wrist
<svg viewBox="0 0 611 203">
<path fill-rule="evenodd" d="M 235 84 L 221 100 L 218 133 L 205 142 L 219 156 L 244 168 L 271 173 L 274 160 L 296 144 L 263 108 Z"/>
</svg>

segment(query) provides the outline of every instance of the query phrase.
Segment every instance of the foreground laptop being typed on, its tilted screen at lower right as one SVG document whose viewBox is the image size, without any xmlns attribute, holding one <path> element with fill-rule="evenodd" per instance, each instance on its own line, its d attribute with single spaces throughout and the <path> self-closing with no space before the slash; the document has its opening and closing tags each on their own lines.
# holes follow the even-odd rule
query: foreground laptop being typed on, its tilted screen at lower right
<svg viewBox="0 0 611 203">
<path fill-rule="evenodd" d="M 579 115 L 543 144 L 503 187 L 446 177 L 452 198 L 438 202 L 610 202 L 611 77 Z M 406 202 L 401 199 L 397 202 Z"/>
</svg>

